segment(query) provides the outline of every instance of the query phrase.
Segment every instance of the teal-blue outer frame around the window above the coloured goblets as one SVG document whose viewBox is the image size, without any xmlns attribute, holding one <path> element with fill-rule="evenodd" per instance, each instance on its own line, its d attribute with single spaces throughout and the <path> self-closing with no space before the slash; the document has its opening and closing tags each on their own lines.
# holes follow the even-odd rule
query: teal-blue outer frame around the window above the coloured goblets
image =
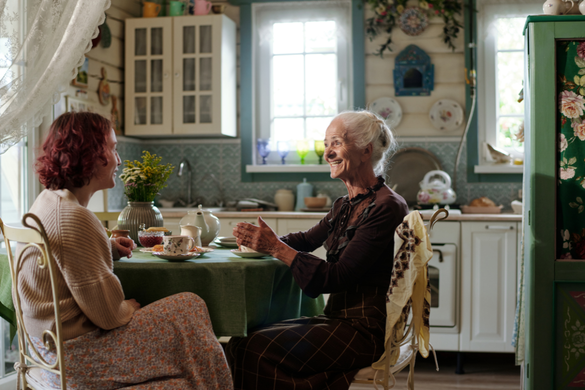
<svg viewBox="0 0 585 390">
<path fill-rule="evenodd" d="M 294 165 L 295 172 L 290 172 L 292 165 L 284 165 L 284 171 L 256 171 L 249 172 L 247 167 L 253 166 L 254 158 L 254 97 L 253 90 L 253 12 L 252 4 L 269 2 L 266 0 L 232 0 L 232 5 L 240 7 L 240 137 L 241 137 L 241 164 L 240 174 L 242 182 L 257 181 L 332 181 L 329 168 L 326 164 L 315 167 L 310 165 Z M 351 46 L 352 53 L 352 97 L 353 108 L 366 106 L 365 81 L 365 53 L 364 53 L 364 22 L 362 0 L 351 2 Z M 256 165 L 260 167 L 260 165 Z"/>
</svg>

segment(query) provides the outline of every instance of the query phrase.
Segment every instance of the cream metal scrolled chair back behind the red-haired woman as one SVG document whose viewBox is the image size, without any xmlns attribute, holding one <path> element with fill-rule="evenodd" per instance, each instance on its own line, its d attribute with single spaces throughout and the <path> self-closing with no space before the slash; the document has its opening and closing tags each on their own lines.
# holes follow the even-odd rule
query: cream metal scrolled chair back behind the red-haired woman
<svg viewBox="0 0 585 390">
<path fill-rule="evenodd" d="M 32 220 L 32 221 L 30 221 Z M 34 222 L 33 225 L 29 225 L 29 222 Z M 22 217 L 22 225 L 25 227 L 13 227 L 4 225 L 2 219 L 0 219 L 0 230 L 4 236 L 6 243 L 6 250 L 8 251 L 8 261 L 10 264 L 11 278 L 12 278 L 12 297 L 16 310 L 16 325 L 18 328 L 18 345 L 19 345 L 19 362 L 15 364 L 15 368 L 18 371 L 18 382 L 20 384 L 20 390 L 26 390 L 32 388 L 30 383 L 26 380 L 27 369 L 36 366 L 59 374 L 61 378 L 61 390 L 67 389 L 66 377 L 65 377 L 65 360 L 63 351 L 63 330 L 61 326 L 61 313 L 59 310 L 59 296 L 57 295 L 57 272 L 59 272 L 51 247 L 49 245 L 49 239 L 45 233 L 43 224 L 39 218 L 32 214 L 26 213 Z M 18 253 L 18 257 L 14 257 L 10 247 L 10 241 L 23 243 L 23 247 Z M 55 327 L 56 332 L 50 329 L 44 330 L 42 334 L 42 340 L 47 349 L 56 348 L 57 360 L 53 364 L 47 363 L 39 352 L 36 350 L 34 344 L 30 340 L 29 333 L 26 331 L 25 323 L 22 318 L 22 309 L 20 306 L 20 295 L 18 292 L 19 287 L 19 272 L 22 268 L 22 264 L 25 260 L 32 261 L 33 257 L 27 256 L 23 258 L 23 253 L 27 249 L 36 249 L 40 252 L 40 255 L 34 259 L 36 260 L 39 268 L 47 270 L 51 279 L 51 292 L 53 295 L 53 305 L 55 309 Z M 30 249 L 27 251 L 30 253 Z M 27 348 L 29 347 L 30 348 Z M 32 352 L 32 355 L 31 355 Z M 18 385 L 17 385 L 18 387 Z"/>
</svg>

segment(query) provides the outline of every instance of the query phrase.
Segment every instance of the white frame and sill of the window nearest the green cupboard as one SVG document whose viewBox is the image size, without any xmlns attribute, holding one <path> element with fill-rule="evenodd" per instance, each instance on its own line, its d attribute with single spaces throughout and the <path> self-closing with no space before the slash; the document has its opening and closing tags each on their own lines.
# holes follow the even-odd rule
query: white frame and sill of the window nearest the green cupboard
<svg viewBox="0 0 585 390">
<path fill-rule="evenodd" d="M 511 2 L 496 4 L 484 2 L 480 5 L 477 18 L 477 150 L 479 151 L 479 165 L 474 168 L 475 173 L 521 173 L 522 165 L 493 165 L 486 158 L 485 143 L 496 145 L 497 124 L 497 47 L 496 34 L 488 32 L 492 20 L 497 18 L 525 18 L 531 13 L 540 13 L 542 4 L 529 2 Z M 524 65 L 522 65 L 524 67 Z M 519 91 L 518 91 L 519 92 Z M 523 157 L 524 153 L 508 150 L 512 157 Z M 493 167 L 493 168 L 492 168 Z"/>
</svg>

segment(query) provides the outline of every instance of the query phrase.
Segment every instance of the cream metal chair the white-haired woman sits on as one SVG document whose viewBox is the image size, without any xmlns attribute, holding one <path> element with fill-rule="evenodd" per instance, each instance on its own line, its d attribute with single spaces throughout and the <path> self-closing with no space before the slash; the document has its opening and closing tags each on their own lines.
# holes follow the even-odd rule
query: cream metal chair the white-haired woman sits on
<svg viewBox="0 0 585 390">
<path fill-rule="evenodd" d="M 439 215 L 443 212 L 445 213 L 445 216 L 439 218 Z M 433 213 L 428 225 L 425 225 L 428 226 L 426 232 L 428 240 L 429 240 L 428 232 L 432 229 L 435 223 L 438 222 L 439 220 L 447 218 L 448 216 L 449 212 L 446 209 L 439 209 L 435 213 Z M 408 308 L 408 310 L 410 310 L 410 308 Z M 376 370 L 371 366 L 362 368 L 362 370 L 358 371 L 355 377 L 353 378 L 349 390 L 371 389 L 371 386 L 363 385 L 373 385 L 375 389 L 378 389 L 378 385 L 380 385 L 384 390 L 391 389 L 396 385 L 396 379 L 394 378 L 394 375 L 404 370 L 404 368 L 407 367 L 407 365 L 410 365 L 411 371 L 411 374 L 409 375 L 409 379 L 411 380 L 411 382 L 408 384 L 408 388 L 414 390 L 414 364 L 418 352 L 418 337 L 415 334 L 414 326 L 412 326 L 413 323 L 414 322 L 411 321 L 407 331 L 404 333 L 404 336 L 402 337 L 401 340 L 394 340 L 394 337 L 389 337 L 386 341 L 385 348 L 388 356 L 390 355 L 390 351 L 400 349 L 398 361 L 394 365 L 390 365 L 390 360 L 387 358 L 386 367 L 384 367 L 384 370 Z M 433 355 L 435 356 L 436 370 L 439 371 L 439 365 L 436 361 L 435 350 L 432 347 L 432 345 L 431 350 L 433 352 Z M 380 377 L 382 378 L 378 379 Z"/>
</svg>

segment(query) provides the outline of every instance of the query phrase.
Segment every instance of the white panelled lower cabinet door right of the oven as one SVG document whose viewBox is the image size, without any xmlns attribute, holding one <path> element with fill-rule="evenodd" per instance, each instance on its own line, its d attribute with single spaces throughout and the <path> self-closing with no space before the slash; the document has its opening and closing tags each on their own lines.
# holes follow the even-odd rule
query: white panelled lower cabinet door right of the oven
<svg viewBox="0 0 585 390">
<path fill-rule="evenodd" d="M 514 352 L 516 222 L 462 222 L 460 349 Z"/>
</svg>

